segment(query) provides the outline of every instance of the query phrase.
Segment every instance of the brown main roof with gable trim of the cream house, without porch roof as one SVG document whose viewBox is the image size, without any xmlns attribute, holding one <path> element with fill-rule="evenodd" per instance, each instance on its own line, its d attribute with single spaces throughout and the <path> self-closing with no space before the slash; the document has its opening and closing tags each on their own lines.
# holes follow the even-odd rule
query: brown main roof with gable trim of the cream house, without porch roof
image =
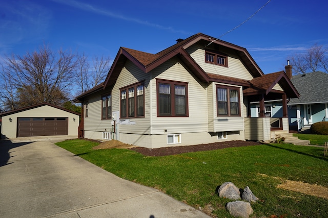
<svg viewBox="0 0 328 218">
<path fill-rule="evenodd" d="M 195 74 L 200 81 L 209 82 L 210 79 L 206 72 L 204 72 L 203 69 L 185 51 L 185 49 L 187 49 L 189 46 L 197 43 L 200 40 L 204 41 L 204 44 L 209 44 L 213 42 L 214 44 L 226 46 L 230 49 L 233 49 L 240 57 L 240 60 L 243 62 L 243 64 L 251 71 L 253 77 L 260 77 L 264 75 L 246 49 L 226 41 L 213 39 L 213 37 L 210 37 L 208 35 L 197 33 L 185 40 L 182 40 L 168 47 L 167 49 L 157 54 L 150 54 L 132 49 L 127 49 L 125 47 L 120 47 L 112 64 L 112 67 L 107 75 L 107 78 L 104 82 L 104 88 L 115 84 L 118 75 L 122 67 L 124 67 L 125 61 L 127 59 L 132 61 L 142 71 L 147 73 L 174 56 L 178 56 L 182 60 L 182 62 L 191 69 L 193 74 Z"/>
</svg>

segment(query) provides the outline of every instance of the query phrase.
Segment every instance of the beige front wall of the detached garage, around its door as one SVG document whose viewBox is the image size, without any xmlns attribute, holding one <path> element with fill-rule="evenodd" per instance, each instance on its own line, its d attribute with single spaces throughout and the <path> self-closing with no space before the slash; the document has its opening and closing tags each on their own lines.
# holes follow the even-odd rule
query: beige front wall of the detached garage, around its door
<svg viewBox="0 0 328 218">
<path fill-rule="evenodd" d="M 60 110 L 48 105 L 32 108 L 30 110 L 17 112 L 2 117 L 1 133 L 7 138 L 16 138 L 17 117 L 68 117 L 68 135 L 78 134 L 79 115 Z M 12 119 L 12 122 L 9 121 Z M 75 119 L 75 121 L 73 120 Z"/>
</svg>

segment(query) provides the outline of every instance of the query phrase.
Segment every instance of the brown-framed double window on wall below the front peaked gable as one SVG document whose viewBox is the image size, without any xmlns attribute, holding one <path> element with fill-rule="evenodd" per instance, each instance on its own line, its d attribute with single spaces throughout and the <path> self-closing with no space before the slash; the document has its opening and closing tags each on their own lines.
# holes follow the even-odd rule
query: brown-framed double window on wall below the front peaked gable
<svg viewBox="0 0 328 218">
<path fill-rule="evenodd" d="M 188 83 L 157 79 L 157 116 L 188 116 Z"/>
</svg>

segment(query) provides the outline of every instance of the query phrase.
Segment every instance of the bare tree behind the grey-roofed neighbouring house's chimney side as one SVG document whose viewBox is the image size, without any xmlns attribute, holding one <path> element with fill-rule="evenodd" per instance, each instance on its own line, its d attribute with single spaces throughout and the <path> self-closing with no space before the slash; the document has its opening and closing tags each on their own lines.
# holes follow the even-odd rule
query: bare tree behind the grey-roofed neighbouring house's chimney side
<svg viewBox="0 0 328 218">
<path fill-rule="evenodd" d="M 289 58 L 294 74 L 324 71 L 328 73 L 328 49 L 323 45 L 313 45 L 306 53 L 295 54 Z"/>
</svg>

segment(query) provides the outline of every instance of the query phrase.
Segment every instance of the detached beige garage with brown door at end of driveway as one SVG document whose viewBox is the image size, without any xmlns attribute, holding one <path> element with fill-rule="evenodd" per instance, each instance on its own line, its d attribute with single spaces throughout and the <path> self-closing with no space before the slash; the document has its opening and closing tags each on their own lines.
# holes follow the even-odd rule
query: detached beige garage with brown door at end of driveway
<svg viewBox="0 0 328 218">
<path fill-rule="evenodd" d="M 70 135 L 77 137 L 79 114 L 48 103 L 0 113 L 1 138 Z"/>
</svg>

